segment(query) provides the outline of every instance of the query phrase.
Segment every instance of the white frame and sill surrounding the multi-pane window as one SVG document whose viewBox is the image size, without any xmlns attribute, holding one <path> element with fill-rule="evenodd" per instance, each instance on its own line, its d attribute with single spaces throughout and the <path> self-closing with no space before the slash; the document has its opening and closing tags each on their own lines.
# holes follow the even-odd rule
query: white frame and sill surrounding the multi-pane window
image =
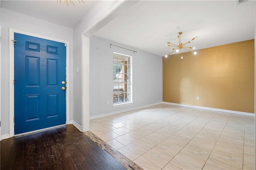
<svg viewBox="0 0 256 170">
<path fill-rule="evenodd" d="M 126 55 L 126 54 L 122 54 L 122 53 L 117 53 L 117 52 L 114 52 L 113 53 L 113 67 L 114 67 L 114 54 L 118 54 L 118 55 L 124 55 L 126 57 L 130 57 L 130 101 L 129 102 L 124 102 L 124 103 L 113 103 L 113 107 L 120 107 L 120 106 L 124 106 L 124 105 L 131 105 L 133 102 L 132 102 L 132 56 L 131 55 Z M 114 70 L 114 69 L 112 69 Z M 113 71 L 114 73 L 114 71 Z M 114 77 L 113 77 L 113 90 L 114 90 Z"/>
</svg>

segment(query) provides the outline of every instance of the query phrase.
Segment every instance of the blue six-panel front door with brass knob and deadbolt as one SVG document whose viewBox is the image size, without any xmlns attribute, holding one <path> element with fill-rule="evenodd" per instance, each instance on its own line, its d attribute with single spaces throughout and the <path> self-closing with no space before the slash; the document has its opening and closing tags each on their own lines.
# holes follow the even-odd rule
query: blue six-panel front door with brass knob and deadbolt
<svg viewBox="0 0 256 170">
<path fill-rule="evenodd" d="M 14 134 L 66 124 L 66 46 L 14 33 Z"/>
</svg>

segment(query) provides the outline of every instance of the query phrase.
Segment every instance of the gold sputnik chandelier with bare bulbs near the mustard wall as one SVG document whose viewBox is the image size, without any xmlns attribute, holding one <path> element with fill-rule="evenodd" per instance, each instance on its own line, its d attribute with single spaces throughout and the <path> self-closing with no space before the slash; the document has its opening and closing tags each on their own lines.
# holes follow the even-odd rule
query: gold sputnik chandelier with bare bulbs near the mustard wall
<svg viewBox="0 0 256 170">
<path fill-rule="evenodd" d="M 180 58 L 183 59 L 183 56 L 182 56 L 182 52 L 181 52 L 181 49 L 186 49 L 187 51 L 190 51 L 192 52 L 194 55 L 197 54 L 196 51 L 193 51 L 196 47 L 184 47 L 184 45 L 188 44 L 188 43 L 191 43 L 192 41 L 194 41 L 196 38 L 198 38 L 197 36 L 195 38 L 192 38 L 191 40 L 189 40 L 188 42 L 182 44 L 181 43 L 181 40 L 180 40 L 180 36 L 181 36 L 182 32 L 179 32 L 179 34 L 177 35 L 177 38 L 178 38 L 178 41 L 179 41 L 179 45 L 175 45 L 175 44 L 172 44 L 170 42 L 167 42 L 167 44 L 165 45 L 166 47 L 174 47 L 172 48 L 172 52 L 176 51 L 177 53 L 180 52 Z M 172 52 L 166 54 L 164 57 L 168 57 L 168 55 L 170 55 Z"/>
</svg>

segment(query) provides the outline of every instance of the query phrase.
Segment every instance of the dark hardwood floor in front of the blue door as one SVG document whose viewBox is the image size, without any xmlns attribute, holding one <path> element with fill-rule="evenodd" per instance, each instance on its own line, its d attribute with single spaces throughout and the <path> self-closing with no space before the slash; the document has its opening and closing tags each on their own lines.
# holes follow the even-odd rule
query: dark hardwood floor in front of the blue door
<svg viewBox="0 0 256 170">
<path fill-rule="evenodd" d="M 74 125 L 16 136 L 0 143 L 1 170 L 126 169 Z"/>
</svg>

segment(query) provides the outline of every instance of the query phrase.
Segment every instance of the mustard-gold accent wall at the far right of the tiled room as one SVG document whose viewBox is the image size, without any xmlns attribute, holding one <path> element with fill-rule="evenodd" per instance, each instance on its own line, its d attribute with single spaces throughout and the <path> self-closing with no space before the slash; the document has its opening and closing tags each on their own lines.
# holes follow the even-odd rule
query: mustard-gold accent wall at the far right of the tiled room
<svg viewBox="0 0 256 170">
<path fill-rule="evenodd" d="M 254 113 L 254 40 L 196 51 L 163 57 L 163 101 Z"/>
</svg>

